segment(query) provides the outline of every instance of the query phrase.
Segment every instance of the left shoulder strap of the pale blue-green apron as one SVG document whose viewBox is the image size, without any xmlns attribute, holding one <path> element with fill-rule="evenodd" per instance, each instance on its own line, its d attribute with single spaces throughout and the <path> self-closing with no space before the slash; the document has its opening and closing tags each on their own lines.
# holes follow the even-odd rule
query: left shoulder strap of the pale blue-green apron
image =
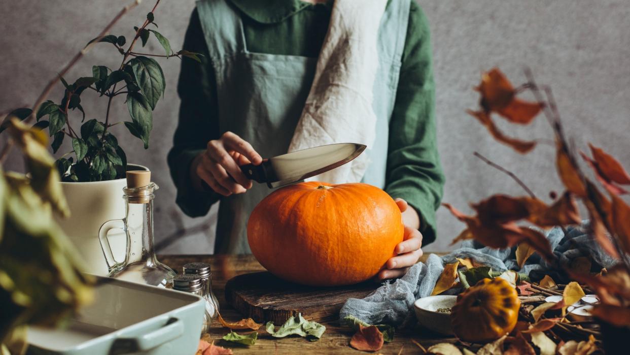
<svg viewBox="0 0 630 355">
<path fill-rule="evenodd" d="M 226 0 L 198 0 L 197 11 L 214 64 L 245 51 L 243 22 L 232 4 Z"/>
</svg>

